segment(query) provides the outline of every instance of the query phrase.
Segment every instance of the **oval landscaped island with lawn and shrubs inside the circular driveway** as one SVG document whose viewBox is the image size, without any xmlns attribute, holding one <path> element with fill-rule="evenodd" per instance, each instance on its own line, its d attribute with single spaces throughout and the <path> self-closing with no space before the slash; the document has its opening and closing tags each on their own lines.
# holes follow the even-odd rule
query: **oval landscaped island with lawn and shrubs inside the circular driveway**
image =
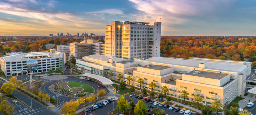
<svg viewBox="0 0 256 115">
<path fill-rule="evenodd" d="M 89 96 L 94 93 L 94 89 L 81 82 L 63 81 L 50 85 L 49 89 L 58 95 L 74 97 L 74 96 Z"/>
</svg>

